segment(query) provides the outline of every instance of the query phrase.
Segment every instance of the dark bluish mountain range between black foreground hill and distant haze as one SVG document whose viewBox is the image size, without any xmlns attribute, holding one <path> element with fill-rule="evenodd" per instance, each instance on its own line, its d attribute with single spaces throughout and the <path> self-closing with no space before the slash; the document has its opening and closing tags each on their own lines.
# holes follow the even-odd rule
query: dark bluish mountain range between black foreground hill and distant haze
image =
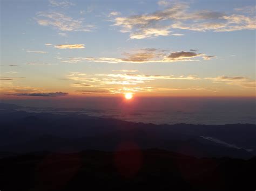
<svg viewBox="0 0 256 191">
<path fill-rule="evenodd" d="M 8 105 L 7 105 L 8 106 Z M 114 151 L 132 142 L 194 157 L 250 159 L 256 154 L 256 125 L 154 125 L 81 115 L 8 109 L 0 112 L 0 151 Z M 17 108 L 11 105 L 11 108 Z M 7 154 L 8 155 L 8 154 Z"/>
</svg>

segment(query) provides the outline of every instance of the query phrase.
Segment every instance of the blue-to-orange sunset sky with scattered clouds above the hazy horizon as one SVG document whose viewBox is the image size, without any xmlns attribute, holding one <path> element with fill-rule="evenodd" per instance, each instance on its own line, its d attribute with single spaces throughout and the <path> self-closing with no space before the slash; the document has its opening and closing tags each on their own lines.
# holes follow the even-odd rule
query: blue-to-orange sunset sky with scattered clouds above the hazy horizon
<svg viewBox="0 0 256 191">
<path fill-rule="evenodd" d="M 2 99 L 255 97 L 255 1 L 1 1 Z"/>
</svg>

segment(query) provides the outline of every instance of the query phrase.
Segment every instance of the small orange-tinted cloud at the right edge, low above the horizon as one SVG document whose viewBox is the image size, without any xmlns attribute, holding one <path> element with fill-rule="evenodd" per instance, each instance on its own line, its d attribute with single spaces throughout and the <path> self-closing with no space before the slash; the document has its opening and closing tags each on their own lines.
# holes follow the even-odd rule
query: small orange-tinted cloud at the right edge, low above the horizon
<svg viewBox="0 0 256 191">
<path fill-rule="evenodd" d="M 213 82 L 224 82 L 229 85 L 240 86 L 243 88 L 256 88 L 256 81 L 251 80 L 244 76 L 218 76 L 218 77 L 206 77 L 205 79 Z"/>
</svg>

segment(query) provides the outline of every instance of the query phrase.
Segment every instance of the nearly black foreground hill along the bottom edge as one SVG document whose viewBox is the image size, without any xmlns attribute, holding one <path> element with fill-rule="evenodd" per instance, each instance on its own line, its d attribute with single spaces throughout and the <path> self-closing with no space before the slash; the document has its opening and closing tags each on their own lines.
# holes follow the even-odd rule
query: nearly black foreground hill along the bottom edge
<svg viewBox="0 0 256 191">
<path fill-rule="evenodd" d="M 0 160 L 1 190 L 254 190 L 256 159 L 164 150 L 37 152 Z"/>
</svg>

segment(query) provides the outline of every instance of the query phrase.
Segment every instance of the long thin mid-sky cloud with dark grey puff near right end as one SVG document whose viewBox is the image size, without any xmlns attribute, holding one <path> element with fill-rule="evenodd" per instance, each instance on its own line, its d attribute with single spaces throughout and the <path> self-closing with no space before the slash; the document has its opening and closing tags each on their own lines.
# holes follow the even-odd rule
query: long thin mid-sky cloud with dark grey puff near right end
<svg viewBox="0 0 256 191">
<path fill-rule="evenodd" d="M 214 56 L 208 56 L 202 53 L 195 52 L 171 52 L 166 54 L 166 50 L 156 48 L 137 49 L 130 53 L 123 53 L 124 58 L 107 58 L 107 57 L 76 57 L 62 60 L 62 62 L 78 63 L 84 61 L 90 62 L 106 62 L 106 63 L 149 63 L 149 62 L 178 62 L 178 61 L 199 61 L 194 58 L 210 60 Z"/>
</svg>

